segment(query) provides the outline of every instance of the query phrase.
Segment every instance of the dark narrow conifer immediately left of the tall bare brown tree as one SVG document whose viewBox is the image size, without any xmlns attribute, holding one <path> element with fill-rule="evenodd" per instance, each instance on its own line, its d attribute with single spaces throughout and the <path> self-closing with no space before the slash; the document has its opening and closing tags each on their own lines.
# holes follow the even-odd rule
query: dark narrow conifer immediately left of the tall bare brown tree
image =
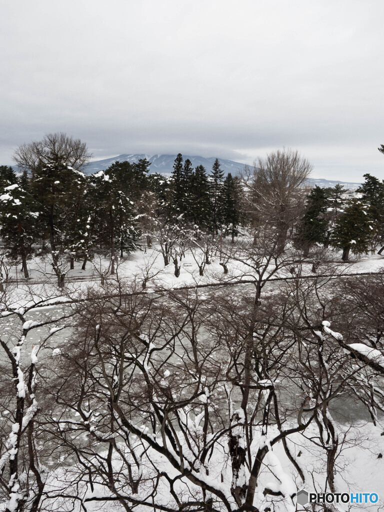
<svg viewBox="0 0 384 512">
<path fill-rule="evenodd" d="M 220 191 L 221 211 L 220 217 L 226 232 L 231 233 L 232 243 L 240 224 L 240 198 L 241 186 L 238 177 L 232 177 L 228 173 Z"/>
</svg>

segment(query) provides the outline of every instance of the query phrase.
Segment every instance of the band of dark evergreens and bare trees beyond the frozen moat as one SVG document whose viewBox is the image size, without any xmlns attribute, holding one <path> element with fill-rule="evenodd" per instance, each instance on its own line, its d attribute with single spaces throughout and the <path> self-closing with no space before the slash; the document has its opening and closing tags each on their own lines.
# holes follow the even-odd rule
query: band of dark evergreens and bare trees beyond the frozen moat
<svg viewBox="0 0 384 512">
<path fill-rule="evenodd" d="M 345 201 L 340 185 L 306 186 L 311 165 L 297 152 L 275 152 L 237 176 L 224 176 L 218 159 L 208 174 L 178 154 L 170 178 L 148 173 L 146 159 L 114 162 L 86 176 L 89 157 L 80 140 L 48 134 L 17 148 L 21 175 L 0 166 L 0 237 L 26 278 L 36 254 L 50 255 L 59 283 L 67 266 L 78 261 L 85 269 L 97 252 L 110 255 L 113 274 L 119 255 L 140 237 L 160 244 L 164 264 L 173 261 L 176 275 L 176 240 L 220 234 L 233 243 L 239 233 L 257 237 L 268 227 L 279 232 L 280 249 L 288 239 L 304 255 L 314 245 L 331 246 L 343 250 L 344 261 L 384 243 L 384 181 L 366 174 L 357 190 L 361 198 Z"/>
</svg>

